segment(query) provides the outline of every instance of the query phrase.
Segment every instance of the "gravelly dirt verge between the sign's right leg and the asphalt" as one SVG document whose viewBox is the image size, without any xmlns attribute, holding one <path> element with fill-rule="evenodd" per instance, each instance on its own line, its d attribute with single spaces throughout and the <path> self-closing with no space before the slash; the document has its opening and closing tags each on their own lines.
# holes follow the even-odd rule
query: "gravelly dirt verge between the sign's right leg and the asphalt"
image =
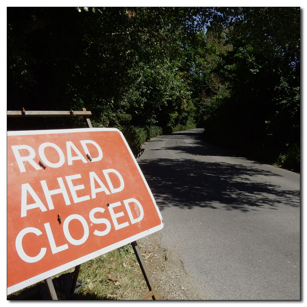
<svg viewBox="0 0 307 307">
<path fill-rule="evenodd" d="M 161 235 L 155 232 L 138 240 L 141 253 L 160 300 L 208 300 L 196 289 L 197 281 L 192 280 L 175 251 L 159 246 Z"/>
</svg>

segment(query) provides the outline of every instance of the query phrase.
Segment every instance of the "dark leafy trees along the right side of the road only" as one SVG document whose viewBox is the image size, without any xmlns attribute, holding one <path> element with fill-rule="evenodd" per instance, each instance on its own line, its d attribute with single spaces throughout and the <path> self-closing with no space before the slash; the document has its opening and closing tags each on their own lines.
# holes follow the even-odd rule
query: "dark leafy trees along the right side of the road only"
<svg viewBox="0 0 307 307">
<path fill-rule="evenodd" d="M 198 123 L 212 142 L 297 169 L 288 149 L 300 143 L 299 9 L 216 10 L 222 17 L 210 23 L 199 61 L 207 75 Z"/>
</svg>

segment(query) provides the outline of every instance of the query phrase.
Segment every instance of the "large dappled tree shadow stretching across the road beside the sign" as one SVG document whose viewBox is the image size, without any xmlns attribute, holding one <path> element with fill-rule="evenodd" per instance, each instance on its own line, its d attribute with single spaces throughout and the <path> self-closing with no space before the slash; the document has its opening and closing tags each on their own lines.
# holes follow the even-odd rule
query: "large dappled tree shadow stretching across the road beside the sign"
<svg viewBox="0 0 307 307">
<path fill-rule="evenodd" d="M 268 181 L 269 177 L 278 176 L 270 171 L 185 158 L 143 159 L 138 164 L 161 211 L 169 206 L 242 212 L 278 209 L 281 204 L 300 206 L 299 190 L 283 190 L 265 180 L 254 180 L 256 176 L 267 176 Z"/>
</svg>

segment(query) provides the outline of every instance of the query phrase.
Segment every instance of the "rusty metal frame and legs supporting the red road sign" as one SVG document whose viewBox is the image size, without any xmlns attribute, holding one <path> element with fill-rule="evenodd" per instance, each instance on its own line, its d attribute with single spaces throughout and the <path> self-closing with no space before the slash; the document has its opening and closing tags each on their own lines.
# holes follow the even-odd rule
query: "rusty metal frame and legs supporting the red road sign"
<svg viewBox="0 0 307 307">
<path fill-rule="evenodd" d="M 25 111 L 24 108 L 22 108 L 21 111 L 7 111 L 7 117 L 69 117 L 69 116 L 82 116 L 86 122 L 87 127 L 92 128 L 91 121 L 89 119 L 89 116 L 91 116 L 91 112 L 86 111 L 85 108 L 83 108 L 82 111 L 72 111 L 72 110 L 70 111 Z M 142 270 L 142 274 L 146 281 L 147 287 L 149 289 L 149 292 L 146 293 L 144 296 L 140 297 L 139 300 L 147 300 L 150 297 L 152 297 L 153 300 L 158 300 L 159 297 L 157 295 L 156 290 L 154 289 L 149 272 L 146 268 L 145 262 L 138 248 L 138 244 L 136 241 L 133 241 L 131 242 L 131 245 L 134 250 L 135 256 L 138 260 L 139 266 Z M 81 264 L 77 265 L 75 267 L 74 272 L 72 272 L 73 280 L 72 280 L 71 293 L 74 293 L 74 290 L 76 288 L 80 265 Z M 50 298 L 52 300 L 58 300 L 56 290 L 54 288 L 51 277 L 45 279 L 45 285 L 49 291 Z"/>
</svg>

